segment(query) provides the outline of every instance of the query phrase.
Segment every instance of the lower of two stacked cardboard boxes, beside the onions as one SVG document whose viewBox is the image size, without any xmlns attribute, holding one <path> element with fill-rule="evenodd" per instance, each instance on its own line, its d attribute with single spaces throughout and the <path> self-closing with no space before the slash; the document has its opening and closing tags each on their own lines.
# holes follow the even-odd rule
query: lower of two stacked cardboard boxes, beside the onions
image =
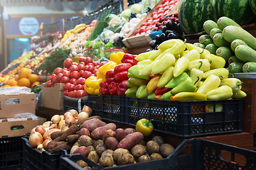
<svg viewBox="0 0 256 170">
<path fill-rule="evenodd" d="M 46 118 L 38 117 L 37 119 L 27 118 L 26 120 L 11 120 L 4 119 L 0 122 L 0 138 L 1 137 L 18 137 L 27 135 L 37 125 L 43 125 Z M 22 127 L 22 129 L 16 129 Z"/>
</svg>

